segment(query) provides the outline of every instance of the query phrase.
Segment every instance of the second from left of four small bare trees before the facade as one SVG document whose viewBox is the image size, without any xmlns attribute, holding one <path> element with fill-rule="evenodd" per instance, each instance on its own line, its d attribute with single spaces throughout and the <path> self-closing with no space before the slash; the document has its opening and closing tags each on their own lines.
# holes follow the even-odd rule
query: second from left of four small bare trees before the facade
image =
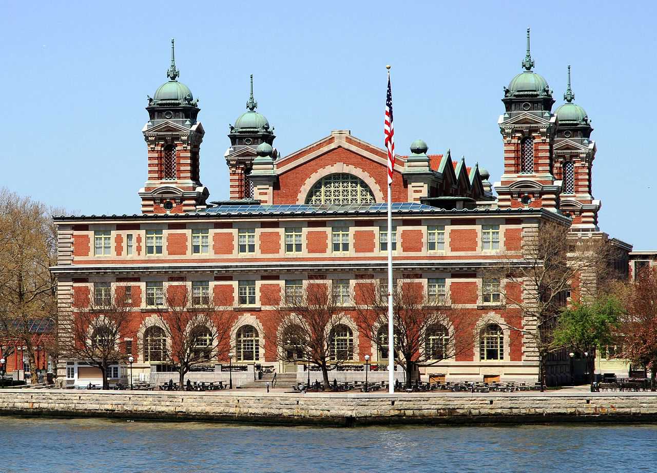
<svg viewBox="0 0 657 473">
<path fill-rule="evenodd" d="M 182 284 L 172 284 L 167 289 L 155 325 L 164 333 L 166 342 L 156 344 L 162 361 L 177 368 L 182 391 L 185 375 L 192 367 L 210 363 L 229 352 L 234 316 L 232 307 L 215 304 L 209 286 L 193 287 L 191 293 Z M 149 349 L 152 341 L 143 338 L 142 346 Z"/>
</svg>

